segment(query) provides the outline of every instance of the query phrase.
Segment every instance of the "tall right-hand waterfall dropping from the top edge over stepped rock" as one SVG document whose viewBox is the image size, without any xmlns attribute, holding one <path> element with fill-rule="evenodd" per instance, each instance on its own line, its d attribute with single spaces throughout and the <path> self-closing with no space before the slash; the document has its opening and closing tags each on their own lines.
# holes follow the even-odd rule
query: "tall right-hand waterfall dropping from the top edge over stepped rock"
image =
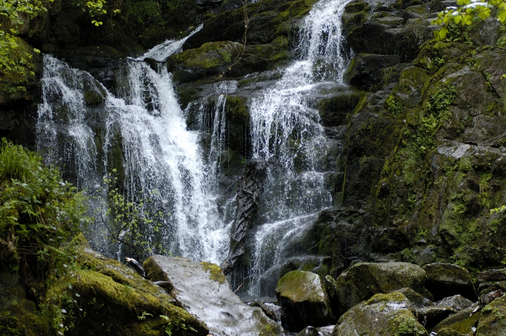
<svg viewBox="0 0 506 336">
<path fill-rule="evenodd" d="M 276 156 L 280 167 L 268 170 L 259 205 L 248 295 L 273 294 L 280 263 L 304 255 L 297 239 L 304 236 L 318 212 L 332 206 L 325 181 L 325 172 L 333 169 L 326 162 L 328 139 L 310 102 L 318 85 L 343 84 L 350 55 L 343 50 L 341 17 L 348 2 L 315 4 L 304 19 L 298 60 L 283 71 L 273 88 L 251 99 L 254 157 L 267 160 Z M 266 277 L 272 278 L 269 288 L 262 285 Z"/>
</svg>

